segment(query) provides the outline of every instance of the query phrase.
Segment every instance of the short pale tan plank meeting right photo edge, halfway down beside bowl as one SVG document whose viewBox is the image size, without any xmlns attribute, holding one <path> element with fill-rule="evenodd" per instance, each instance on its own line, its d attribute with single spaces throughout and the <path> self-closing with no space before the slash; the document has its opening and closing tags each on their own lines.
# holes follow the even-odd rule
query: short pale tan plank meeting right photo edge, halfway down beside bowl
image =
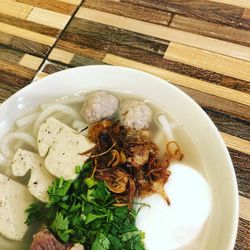
<svg viewBox="0 0 250 250">
<path fill-rule="evenodd" d="M 250 129 L 248 131 L 250 133 Z M 250 155 L 250 141 L 221 132 L 221 136 L 227 147 Z"/>
</svg>

